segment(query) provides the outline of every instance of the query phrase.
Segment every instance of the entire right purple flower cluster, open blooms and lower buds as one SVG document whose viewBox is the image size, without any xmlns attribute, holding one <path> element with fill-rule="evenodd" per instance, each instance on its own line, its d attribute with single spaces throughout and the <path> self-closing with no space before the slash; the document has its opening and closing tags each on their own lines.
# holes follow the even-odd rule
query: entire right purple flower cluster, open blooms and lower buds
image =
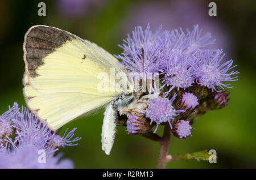
<svg viewBox="0 0 256 180">
<path fill-rule="evenodd" d="M 123 52 L 116 57 L 121 59 L 120 66 L 125 72 L 159 73 L 159 82 L 147 84 L 156 87 L 155 84 L 159 83 L 158 97 L 149 98 L 152 92 L 140 95 L 141 99 L 147 99 L 144 101 L 147 104 L 142 114 L 144 118 L 137 119 L 134 112 L 128 113 L 127 130 L 131 134 L 138 133 L 142 128 L 138 126 L 140 119 L 146 118 L 150 125 L 156 125 L 155 131 L 159 125 L 168 122 L 171 128 L 175 125 L 176 132 L 172 132 L 178 138 L 185 138 L 190 135 L 192 127 L 189 121 L 196 117 L 196 113 L 226 105 L 223 102 L 227 96 L 221 96 L 224 100 L 218 105 L 220 98 L 217 93 L 232 88 L 226 82 L 238 80 L 235 75 L 239 72 L 232 70 L 236 67 L 232 66 L 232 60 L 224 61 L 225 54 L 221 49 L 209 49 L 215 40 L 209 32 L 203 33 L 199 25 L 195 25 L 192 31 L 181 28 L 161 30 L 162 27 L 152 32 L 149 25 L 144 30 L 136 27 L 132 35 L 119 45 Z"/>
</svg>

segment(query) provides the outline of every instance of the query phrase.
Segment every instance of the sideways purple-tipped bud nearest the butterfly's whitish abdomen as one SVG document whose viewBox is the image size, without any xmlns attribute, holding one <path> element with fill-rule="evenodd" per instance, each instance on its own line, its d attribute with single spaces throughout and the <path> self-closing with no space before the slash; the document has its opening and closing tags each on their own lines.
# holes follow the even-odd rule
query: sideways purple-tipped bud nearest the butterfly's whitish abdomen
<svg viewBox="0 0 256 180">
<path fill-rule="evenodd" d="M 144 115 L 132 115 L 130 114 L 126 128 L 129 134 L 144 134 L 151 130 L 150 121 Z"/>
</svg>

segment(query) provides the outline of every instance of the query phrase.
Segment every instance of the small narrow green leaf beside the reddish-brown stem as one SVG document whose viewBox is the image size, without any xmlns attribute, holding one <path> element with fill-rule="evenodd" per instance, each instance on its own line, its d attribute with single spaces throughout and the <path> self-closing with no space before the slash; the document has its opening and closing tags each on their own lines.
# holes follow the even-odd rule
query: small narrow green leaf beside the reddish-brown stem
<svg viewBox="0 0 256 180">
<path fill-rule="evenodd" d="M 203 161 L 207 161 L 209 159 L 209 157 L 212 156 L 211 154 L 208 153 L 207 150 L 205 151 L 199 151 L 199 152 L 194 152 L 194 153 L 188 153 L 185 155 L 180 155 L 178 154 L 177 157 L 174 158 L 174 160 L 203 160 Z"/>
</svg>

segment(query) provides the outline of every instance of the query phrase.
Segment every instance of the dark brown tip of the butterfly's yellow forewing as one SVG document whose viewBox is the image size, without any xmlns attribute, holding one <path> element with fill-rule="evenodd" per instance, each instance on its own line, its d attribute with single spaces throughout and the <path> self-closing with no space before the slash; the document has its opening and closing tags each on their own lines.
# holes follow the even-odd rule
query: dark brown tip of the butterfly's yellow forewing
<svg viewBox="0 0 256 180">
<path fill-rule="evenodd" d="M 38 76 L 36 69 L 43 65 L 43 58 L 71 40 L 72 36 L 67 31 L 45 25 L 35 25 L 28 29 L 23 44 L 23 59 L 28 76 Z"/>
</svg>

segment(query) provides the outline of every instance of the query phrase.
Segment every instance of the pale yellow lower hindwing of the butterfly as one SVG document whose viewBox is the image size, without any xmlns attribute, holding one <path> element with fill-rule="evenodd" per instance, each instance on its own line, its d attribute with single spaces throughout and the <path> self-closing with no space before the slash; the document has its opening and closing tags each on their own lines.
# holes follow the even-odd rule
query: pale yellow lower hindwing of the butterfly
<svg viewBox="0 0 256 180">
<path fill-rule="evenodd" d="M 52 130 L 57 130 L 70 121 L 93 113 L 113 99 L 79 92 L 45 93 L 37 91 L 31 85 L 26 85 L 23 93 L 28 108 L 41 120 L 47 120 L 47 125 Z"/>
</svg>

